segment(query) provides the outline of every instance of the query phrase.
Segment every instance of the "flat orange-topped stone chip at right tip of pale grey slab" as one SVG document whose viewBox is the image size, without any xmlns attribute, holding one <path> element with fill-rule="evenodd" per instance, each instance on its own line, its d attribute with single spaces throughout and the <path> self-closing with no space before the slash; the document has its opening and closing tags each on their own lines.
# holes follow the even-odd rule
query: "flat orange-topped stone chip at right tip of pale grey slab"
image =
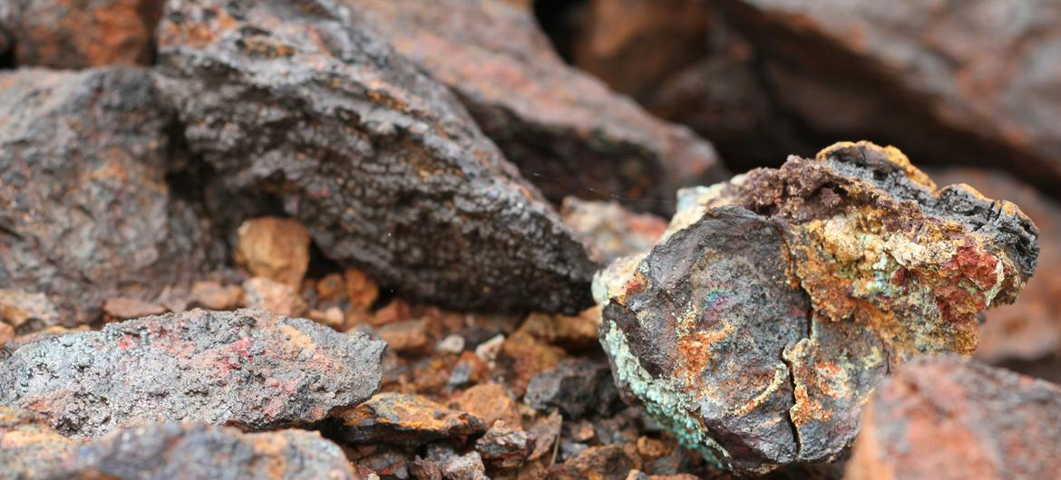
<svg viewBox="0 0 1061 480">
<path fill-rule="evenodd" d="M 483 422 L 420 395 L 379 393 L 337 416 L 336 434 L 355 444 L 387 443 L 415 447 L 437 440 L 482 433 Z"/>
</svg>

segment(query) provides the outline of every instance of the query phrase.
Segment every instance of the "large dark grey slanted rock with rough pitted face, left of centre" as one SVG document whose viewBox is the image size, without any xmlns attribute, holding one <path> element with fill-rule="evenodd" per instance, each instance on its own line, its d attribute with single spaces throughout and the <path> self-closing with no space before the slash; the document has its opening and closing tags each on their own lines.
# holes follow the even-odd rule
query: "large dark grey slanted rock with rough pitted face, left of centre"
<svg viewBox="0 0 1061 480">
<path fill-rule="evenodd" d="M 224 190 L 278 196 L 326 255 L 429 303 L 592 303 L 574 233 L 360 14 L 331 0 L 168 7 L 158 84 Z"/>
</svg>

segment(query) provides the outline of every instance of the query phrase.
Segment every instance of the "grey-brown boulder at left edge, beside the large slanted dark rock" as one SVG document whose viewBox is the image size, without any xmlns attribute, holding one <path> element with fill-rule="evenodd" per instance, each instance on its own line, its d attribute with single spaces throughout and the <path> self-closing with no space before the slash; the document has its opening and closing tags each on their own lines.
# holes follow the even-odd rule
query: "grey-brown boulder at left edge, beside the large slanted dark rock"
<svg viewBox="0 0 1061 480">
<path fill-rule="evenodd" d="M 0 74 L 0 285 L 83 323 L 211 264 L 202 219 L 164 181 L 159 104 L 138 69 Z"/>
</svg>

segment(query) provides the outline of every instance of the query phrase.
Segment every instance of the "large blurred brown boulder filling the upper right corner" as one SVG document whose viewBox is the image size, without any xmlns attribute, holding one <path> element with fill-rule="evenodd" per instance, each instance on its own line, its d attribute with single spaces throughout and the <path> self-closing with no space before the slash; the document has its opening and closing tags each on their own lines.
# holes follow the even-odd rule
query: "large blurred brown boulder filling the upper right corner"
<svg viewBox="0 0 1061 480">
<path fill-rule="evenodd" d="M 763 52 L 782 108 L 810 129 L 894 143 L 926 162 L 1005 166 L 1056 191 L 1061 5 L 720 3 Z"/>
</svg>

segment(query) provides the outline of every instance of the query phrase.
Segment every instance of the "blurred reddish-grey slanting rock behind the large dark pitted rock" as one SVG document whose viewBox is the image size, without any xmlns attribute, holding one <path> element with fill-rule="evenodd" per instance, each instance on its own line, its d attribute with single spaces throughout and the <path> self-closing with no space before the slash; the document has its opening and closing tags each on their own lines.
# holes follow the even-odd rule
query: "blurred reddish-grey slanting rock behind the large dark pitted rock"
<svg viewBox="0 0 1061 480">
<path fill-rule="evenodd" d="M 721 178 L 714 148 L 571 69 L 533 15 L 497 0 L 345 0 L 453 88 L 509 160 L 559 202 L 629 198 L 666 211 L 680 185 Z M 469 28 L 474 25 L 474 28 Z"/>
</svg>

